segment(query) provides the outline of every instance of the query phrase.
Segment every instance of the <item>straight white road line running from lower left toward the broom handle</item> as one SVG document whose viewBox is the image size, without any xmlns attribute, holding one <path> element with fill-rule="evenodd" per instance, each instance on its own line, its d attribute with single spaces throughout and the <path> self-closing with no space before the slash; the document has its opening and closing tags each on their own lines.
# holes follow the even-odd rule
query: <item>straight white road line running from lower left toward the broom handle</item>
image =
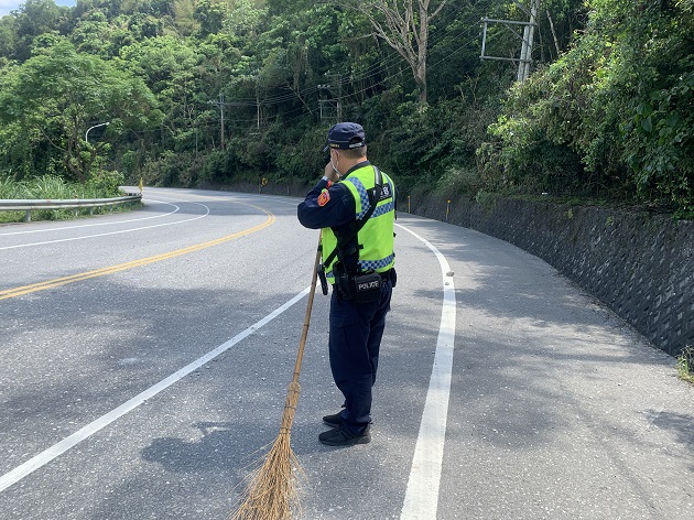
<svg viewBox="0 0 694 520">
<path fill-rule="evenodd" d="M 210 350 L 209 353 L 205 354 L 203 357 L 197 358 L 195 361 L 191 362 L 189 365 L 186 365 L 185 367 L 183 367 L 177 372 L 172 373 L 166 379 L 163 379 L 160 382 L 158 382 L 156 384 L 148 388 L 142 393 L 139 393 L 134 398 L 132 398 L 129 401 L 122 403 L 120 407 L 111 410 L 107 414 L 101 415 L 96 421 L 90 422 L 89 424 L 84 426 L 82 430 L 79 430 L 79 431 L 73 433 L 72 435 L 63 438 L 57 444 L 54 444 L 50 448 L 47 448 L 44 452 L 40 453 L 39 455 L 30 458 L 24 464 L 18 466 L 17 468 L 12 469 L 9 473 L 6 473 L 4 475 L 2 475 L 0 477 L 0 492 L 6 490 L 7 488 L 12 486 L 13 484 L 19 483 L 22 478 L 24 478 L 29 474 L 31 474 L 31 473 L 35 472 L 36 469 L 45 466 L 46 464 L 48 464 L 54 458 L 61 456 L 62 454 L 64 454 L 68 449 L 73 448 L 75 445 L 77 445 L 78 443 L 80 443 L 85 438 L 88 438 L 89 436 L 94 435 L 99 430 L 102 430 L 104 427 L 108 426 L 110 423 L 112 423 L 113 421 L 120 419 L 126 413 L 134 410 L 140 404 L 142 404 L 144 401 L 147 401 L 148 399 L 153 398 L 154 396 L 156 396 L 161 391 L 167 389 L 173 383 L 180 381 L 181 379 L 183 379 L 188 373 L 193 372 L 194 370 L 197 370 L 198 368 L 200 368 L 203 365 L 207 364 L 208 361 L 212 361 L 214 358 L 216 358 L 220 354 L 225 353 L 226 350 L 228 350 L 229 348 L 235 346 L 237 343 L 239 343 L 242 339 L 247 338 L 248 336 L 253 334 L 256 331 L 260 329 L 261 327 L 263 327 L 264 325 L 270 323 L 272 319 L 278 317 L 280 314 L 282 314 L 284 311 L 290 308 L 292 305 L 294 305 L 296 302 L 299 302 L 301 299 L 303 299 L 306 294 L 308 294 L 310 290 L 311 290 L 311 286 L 304 289 L 302 292 L 296 294 L 289 302 L 286 302 L 282 306 L 278 307 L 276 310 L 274 310 L 272 313 L 268 314 L 265 317 L 263 317 L 259 322 L 256 322 L 253 325 L 248 327 L 242 333 L 237 334 L 231 339 L 229 339 L 228 342 L 219 345 L 214 350 Z"/>
</svg>

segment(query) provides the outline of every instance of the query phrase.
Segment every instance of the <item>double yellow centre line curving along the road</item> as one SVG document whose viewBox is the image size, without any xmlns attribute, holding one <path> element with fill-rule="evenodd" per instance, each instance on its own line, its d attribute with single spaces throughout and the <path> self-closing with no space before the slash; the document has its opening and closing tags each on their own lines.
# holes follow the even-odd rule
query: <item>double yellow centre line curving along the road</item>
<svg viewBox="0 0 694 520">
<path fill-rule="evenodd" d="M 111 266 L 109 268 L 97 269 L 95 271 L 87 271 L 79 274 L 72 274 L 69 277 L 56 278 L 54 280 L 47 280 L 45 282 L 32 283 L 30 285 L 22 285 L 21 288 L 7 289 L 4 291 L 0 291 L 0 300 L 9 300 L 11 297 L 22 296 L 24 294 L 30 294 L 33 292 L 45 291 L 46 289 L 57 288 L 61 285 L 65 285 L 67 283 L 80 282 L 83 280 L 88 280 L 90 278 L 104 277 L 105 274 L 112 274 L 115 272 L 139 268 L 141 266 L 147 266 L 149 263 L 161 262 L 162 260 L 169 260 L 170 258 L 181 257 L 182 254 L 188 254 L 191 252 L 200 251 L 203 249 L 212 248 L 214 246 L 219 246 L 220 243 L 225 243 L 230 240 L 235 240 L 237 238 L 251 235 L 256 231 L 264 229 L 268 226 L 271 226 L 272 224 L 274 224 L 276 217 L 264 209 L 262 210 L 268 215 L 268 219 L 264 223 L 258 226 L 254 226 L 252 228 L 245 229 L 239 232 L 235 232 L 234 235 L 227 235 L 225 237 L 217 238 L 215 240 L 197 243 L 195 246 L 188 246 L 187 248 L 176 249 L 175 251 L 156 254 L 154 257 L 141 258 L 139 260 L 132 260 L 130 262 L 119 263 L 117 266 Z"/>
</svg>

